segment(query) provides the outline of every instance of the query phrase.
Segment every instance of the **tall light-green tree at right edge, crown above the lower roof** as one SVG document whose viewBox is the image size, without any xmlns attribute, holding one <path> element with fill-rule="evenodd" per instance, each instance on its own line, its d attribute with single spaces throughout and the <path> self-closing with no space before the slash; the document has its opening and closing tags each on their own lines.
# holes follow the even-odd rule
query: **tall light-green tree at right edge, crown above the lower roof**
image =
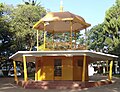
<svg viewBox="0 0 120 92">
<path fill-rule="evenodd" d="M 104 20 L 104 30 L 107 33 L 108 39 L 106 43 L 108 45 L 109 52 L 113 51 L 119 44 L 119 32 L 120 32 L 120 0 L 116 0 L 115 5 L 110 7 L 106 11 Z"/>
</svg>

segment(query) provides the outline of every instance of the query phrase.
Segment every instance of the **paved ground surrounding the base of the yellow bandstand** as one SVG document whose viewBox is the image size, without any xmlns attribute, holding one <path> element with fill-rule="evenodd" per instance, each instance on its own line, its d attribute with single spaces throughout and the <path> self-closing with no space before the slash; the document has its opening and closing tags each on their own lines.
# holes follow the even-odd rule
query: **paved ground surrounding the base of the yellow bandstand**
<svg viewBox="0 0 120 92">
<path fill-rule="evenodd" d="M 91 80 L 104 80 L 105 76 L 93 76 Z M 14 84 L 14 78 L 0 77 L 0 92 L 120 92 L 120 79 L 113 78 L 116 81 L 114 84 L 105 85 L 101 87 L 86 88 L 83 90 L 40 90 L 40 89 L 24 89 Z"/>
</svg>

